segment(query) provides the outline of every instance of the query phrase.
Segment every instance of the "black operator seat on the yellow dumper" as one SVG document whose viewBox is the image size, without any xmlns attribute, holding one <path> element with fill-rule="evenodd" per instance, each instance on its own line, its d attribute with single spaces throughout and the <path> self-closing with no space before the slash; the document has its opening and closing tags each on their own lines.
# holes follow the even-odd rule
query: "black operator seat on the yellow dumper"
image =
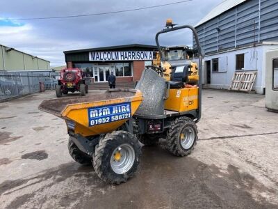
<svg viewBox="0 0 278 209">
<path fill-rule="evenodd" d="M 188 79 L 189 65 L 182 65 L 172 68 L 172 74 L 170 77 L 170 88 L 183 88 L 184 83 Z"/>
</svg>

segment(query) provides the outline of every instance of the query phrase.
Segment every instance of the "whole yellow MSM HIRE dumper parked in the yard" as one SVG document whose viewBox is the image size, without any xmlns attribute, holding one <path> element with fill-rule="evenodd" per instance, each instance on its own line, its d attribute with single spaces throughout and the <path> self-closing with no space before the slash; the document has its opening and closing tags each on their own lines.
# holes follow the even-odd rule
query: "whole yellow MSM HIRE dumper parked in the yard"
<svg viewBox="0 0 278 209">
<path fill-rule="evenodd" d="M 192 26 L 164 29 L 156 35 L 157 43 L 159 34 L 186 28 L 195 36 L 200 64 L 202 51 Z M 195 86 L 186 84 L 190 76 L 186 62 L 172 64 L 170 81 L 163 77 L 163 68 L 150 67 L 142 72 L 135 89 L 111 89 L 85 98 L 68 96 L 40 104 L 40 110 L 65 119 L 72 158 L 80 164 L 92 163 L 99 178 L 108 183 L 126 182 L 136 172 L 139 141 L 151 146 L 164 138 L 167 150 L 177 156 L 186 156 L 195 147 L 201 80 Z"/>
</svg>

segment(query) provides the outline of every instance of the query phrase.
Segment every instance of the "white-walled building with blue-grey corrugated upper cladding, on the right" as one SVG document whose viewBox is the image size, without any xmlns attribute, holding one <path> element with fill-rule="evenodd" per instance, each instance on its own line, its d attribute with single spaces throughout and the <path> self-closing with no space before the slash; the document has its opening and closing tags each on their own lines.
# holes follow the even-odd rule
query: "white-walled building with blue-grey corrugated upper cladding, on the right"
<svg viewBox="0 0 278 209">
<path fill-rule="evenodd" d="M 227 89 L 236 70 L 257 70 L 253 89 L 265 93 L 265 54 L 278 49 L 277 10 L 277 0 L 226 0 L 195 26 L 205 86 Z"/>
</svg>

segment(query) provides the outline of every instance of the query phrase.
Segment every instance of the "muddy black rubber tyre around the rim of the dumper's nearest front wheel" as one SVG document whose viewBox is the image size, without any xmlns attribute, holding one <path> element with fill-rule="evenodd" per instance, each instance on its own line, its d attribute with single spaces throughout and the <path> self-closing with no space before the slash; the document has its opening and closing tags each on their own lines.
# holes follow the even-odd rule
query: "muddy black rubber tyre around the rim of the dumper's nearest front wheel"
<svg viewBox="0 0 278 209">
<path fill-rule="evenodd" d="M 102 167 L 102 164 L 104 164 L 103 162 L 104 157 L 110 156 L 109 153 L 105 152 L 105 148 L 106 146 L 108 146 L 109 141 L 117 140 L 119 139 L 119 137 L 129 138 L 129 140 L 131 140 L 131 143 L 134 143 L 135 149 L 138 150 L 138 156 L 136 156 L 136 160 L 133 164 L 133 166 L 134 165 L 136 166 L 135 169 L 131 168 L 128 173 L 117 175 L 115 177 L 111 175 L 111 173 L 106 173 L 104 171 L 104 167 Z M 140 155 L 141 155 L 140 145 L 138 143 L 137 138 L 134 137 L 133 134 L 130 134 L 129 132 L 125 132 L 125 131 L 114 131 L 111 134 L 106 134 L 104 138 L 101 138 L 99 140 L 99 144 L 97 144 L 97 146 L 95 147 L 95 153 L 92 156 L 92 165 L 99 178 L 101 178 L 105 182 L 119 185 L 120 183 L 126 182 L 129 178 L 131 178 L 134 175 L 139 164 Z M 108 160 L 110 162 L 110 157 L 108 157 Z"/>
</svg>

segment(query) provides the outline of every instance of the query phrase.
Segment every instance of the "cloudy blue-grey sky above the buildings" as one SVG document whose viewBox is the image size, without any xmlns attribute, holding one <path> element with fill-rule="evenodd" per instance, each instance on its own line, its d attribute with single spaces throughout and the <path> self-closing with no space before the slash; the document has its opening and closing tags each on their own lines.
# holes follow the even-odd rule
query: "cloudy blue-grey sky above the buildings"
<svg viewBox="0 0 278 209">
<path fill-rule="evenodd" d="M 222 0 L 192 0 L 126 13 L 52 20 L 8 20 L 85 15 L 156 6 L 181 0 L 9 0 L 0 1 L 0 44 L 65 65 L 64 51 L 129 45 L 155 45 L 154 37 L 171 18 L 195 25 Z M 4 9 L 2 9 L 4 8 Z M 163 34 L 161 45 L 192 45 L 190 31 Z"/>
</svg>

